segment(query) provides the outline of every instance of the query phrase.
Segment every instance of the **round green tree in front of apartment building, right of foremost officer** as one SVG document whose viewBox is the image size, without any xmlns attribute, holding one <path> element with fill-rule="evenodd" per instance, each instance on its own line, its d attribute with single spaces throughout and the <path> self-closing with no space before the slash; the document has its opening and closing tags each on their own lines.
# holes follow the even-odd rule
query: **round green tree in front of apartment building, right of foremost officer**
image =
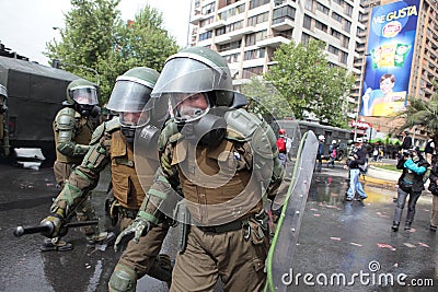
<svg viewBox="0 0 438 292">
<path fill-rule="evenodd" d="M 345 127 L 355 78 L 343 68 L 331 67 L 324 47 L 320 40 L 281 45 L 265 79 L 286 96 L 298 119 L 313 114 L 324 124 Z"/>
</svg>

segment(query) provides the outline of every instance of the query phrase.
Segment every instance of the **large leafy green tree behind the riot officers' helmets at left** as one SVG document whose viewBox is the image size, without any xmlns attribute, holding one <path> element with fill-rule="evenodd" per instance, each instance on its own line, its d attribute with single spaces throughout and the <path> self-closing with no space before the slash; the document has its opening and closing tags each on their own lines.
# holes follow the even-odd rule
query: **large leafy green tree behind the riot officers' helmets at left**
<svg viewBox="0 0 438 292">
<path fill-rule="evenodd" d="M 45 56 L 61 61 L 61 68 L 97 82 L 101 104 L 110 98 L 118 75 L 134 67 L 161 71 L 165 59 L 180 48 L 163 28 L 162 13 L 148 4 L 132 22 L 120 19 L 120 0 L 70 0 L 61 40 L 46 44 Z"/>
</svg>

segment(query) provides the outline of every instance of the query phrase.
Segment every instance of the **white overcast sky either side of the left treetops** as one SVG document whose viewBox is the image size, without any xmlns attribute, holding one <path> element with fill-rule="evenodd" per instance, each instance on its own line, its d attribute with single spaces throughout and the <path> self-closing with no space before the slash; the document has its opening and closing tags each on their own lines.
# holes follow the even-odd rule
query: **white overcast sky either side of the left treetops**
<svg viewBox="0 0 438 292">
<path fill-rule="evenodd" d="M 191 0 L 122 0 L 117 9 L 126 21 L 147 3 L 163 13 L 165 28 L 185 47 Z M 0 43 L 31 61 L 47 65 L 42 51 L 47 42 L 59 37 L 53 27 L 65 27 L 64 14 L 69 10 L 70 0 L 0 0 Z"/>
</svg>

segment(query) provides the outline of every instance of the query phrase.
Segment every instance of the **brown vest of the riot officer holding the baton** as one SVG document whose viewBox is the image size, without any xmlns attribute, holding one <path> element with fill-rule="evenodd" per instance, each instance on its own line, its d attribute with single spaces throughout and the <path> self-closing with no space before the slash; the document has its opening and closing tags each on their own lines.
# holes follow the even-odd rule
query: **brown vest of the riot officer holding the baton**
<svg viewBox="0 0 438 292">
<path fill-rule="evenodd" d="M 134 151 L 122 138 L 119 130 L 112 135 L 111 173 L 114 197 L 123 207 L 138 210 L 145 199 L 145 191 L 136 173 Z"/>
</svg>

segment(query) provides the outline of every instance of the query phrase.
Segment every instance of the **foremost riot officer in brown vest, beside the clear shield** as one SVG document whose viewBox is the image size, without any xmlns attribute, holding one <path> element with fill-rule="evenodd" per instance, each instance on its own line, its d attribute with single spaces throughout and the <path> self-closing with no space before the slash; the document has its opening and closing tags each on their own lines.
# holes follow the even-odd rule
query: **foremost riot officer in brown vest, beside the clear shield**
<svg viewBox="0 0 438 292">
<path fill-rule="evenodd" d="M 263 194 L 274 198 L 284 175 L 274 131 L 243 108 L 226 60 L 208 48 L 171 56 L 151 97 L 172 106 L 159 154 L 173 192 L 148 192 L 136 221 L 147 230 L 158 207 L 178 200 L 171 291 L 211 291 L 219 277 L 226 291 L 261 291 L 269 247 Z"/>
</svg>

